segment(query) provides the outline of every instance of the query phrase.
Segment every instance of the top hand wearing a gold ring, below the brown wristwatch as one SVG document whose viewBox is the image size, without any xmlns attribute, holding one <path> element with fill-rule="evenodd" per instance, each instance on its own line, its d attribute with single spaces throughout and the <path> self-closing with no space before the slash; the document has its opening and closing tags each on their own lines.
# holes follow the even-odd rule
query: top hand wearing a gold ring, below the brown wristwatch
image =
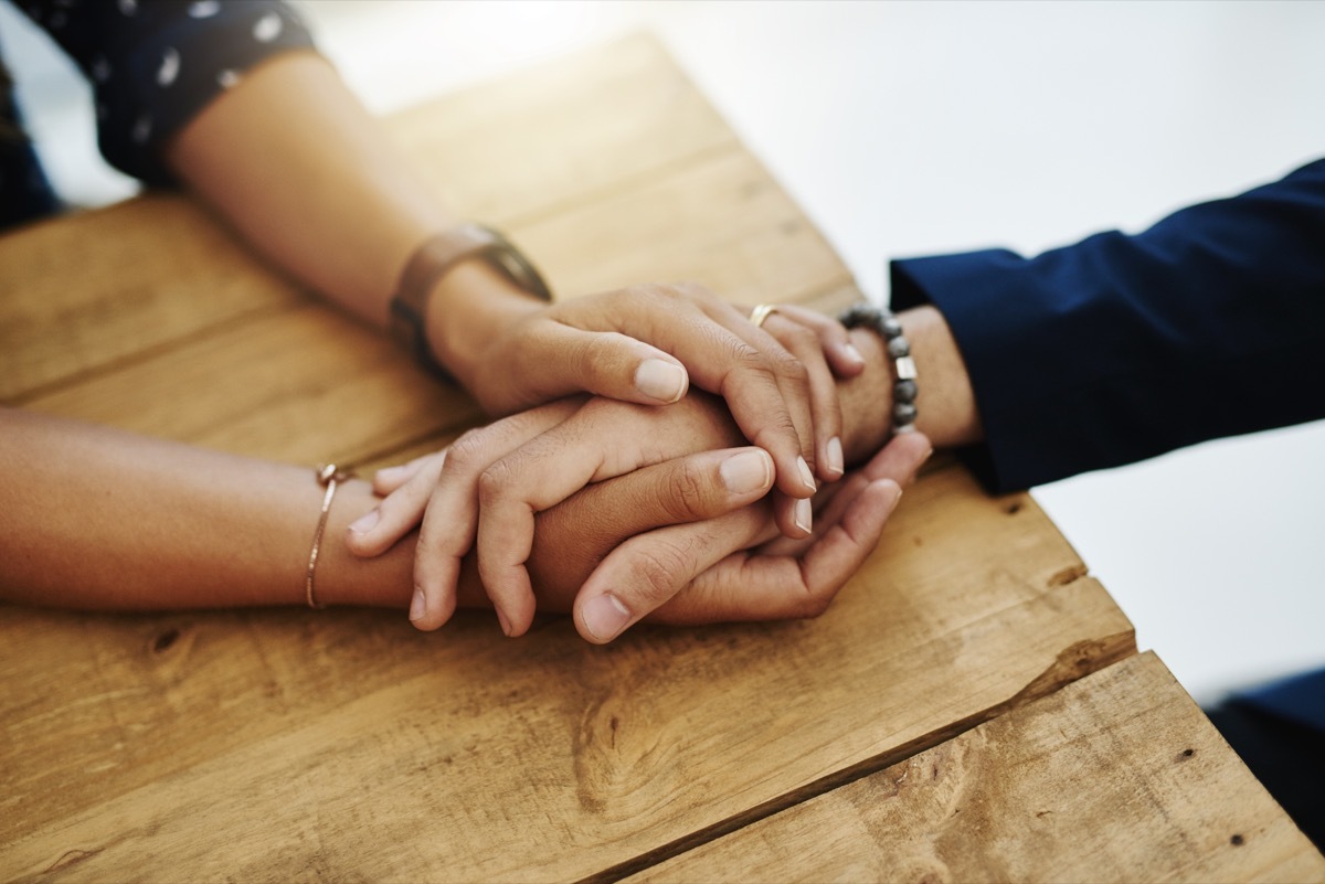
<svg viewBox="0 0 1325 884">
<path fill-rule="evenodd" d="M 579 392 L 668 405 L 693 381 L 723 397 L 745 437 L 772 455 L 790 513 L 816 474 L 833 482 L 844 466 L 824 353 L 812 333 L 782 326 L 758 328 L 702 286 L 632 286 L 518 315 L 458 360 L 460 378 L 493 414 Z"/>
</svg>

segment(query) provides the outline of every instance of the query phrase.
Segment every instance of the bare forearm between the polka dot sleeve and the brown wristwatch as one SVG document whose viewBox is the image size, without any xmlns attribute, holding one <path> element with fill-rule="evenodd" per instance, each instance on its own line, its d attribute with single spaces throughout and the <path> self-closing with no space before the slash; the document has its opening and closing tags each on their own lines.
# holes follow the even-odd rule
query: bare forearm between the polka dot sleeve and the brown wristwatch
<svg viewBox="0 0 1325 884">
<path fill-rule="evenodd" d="M 313 53 L 250 71 L 166 154 L 256 251 L 378 326 L 411 251 L 456 224 L 380 122 Z M 469 295 L 481 288 L 486 300 L 527 300 L 500 274 L 462 275 L 457 282 Z M 472 298 L 465 312 L 477 315 L 484 304 Z"/>
</svg>

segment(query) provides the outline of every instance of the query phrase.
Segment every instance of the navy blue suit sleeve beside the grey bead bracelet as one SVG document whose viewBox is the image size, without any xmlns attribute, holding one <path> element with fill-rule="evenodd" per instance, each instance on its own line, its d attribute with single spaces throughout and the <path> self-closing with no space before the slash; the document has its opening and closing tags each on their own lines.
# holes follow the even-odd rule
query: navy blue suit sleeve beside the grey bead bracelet
<svg viewBox="0 0 1325 884">
<path fill-rule="evenodd" d="M 1325 160 L 1136 236 L 890 275 L 893 308 L 953 328 L 995 491 L 1325 417 Z"/>
</svg>

